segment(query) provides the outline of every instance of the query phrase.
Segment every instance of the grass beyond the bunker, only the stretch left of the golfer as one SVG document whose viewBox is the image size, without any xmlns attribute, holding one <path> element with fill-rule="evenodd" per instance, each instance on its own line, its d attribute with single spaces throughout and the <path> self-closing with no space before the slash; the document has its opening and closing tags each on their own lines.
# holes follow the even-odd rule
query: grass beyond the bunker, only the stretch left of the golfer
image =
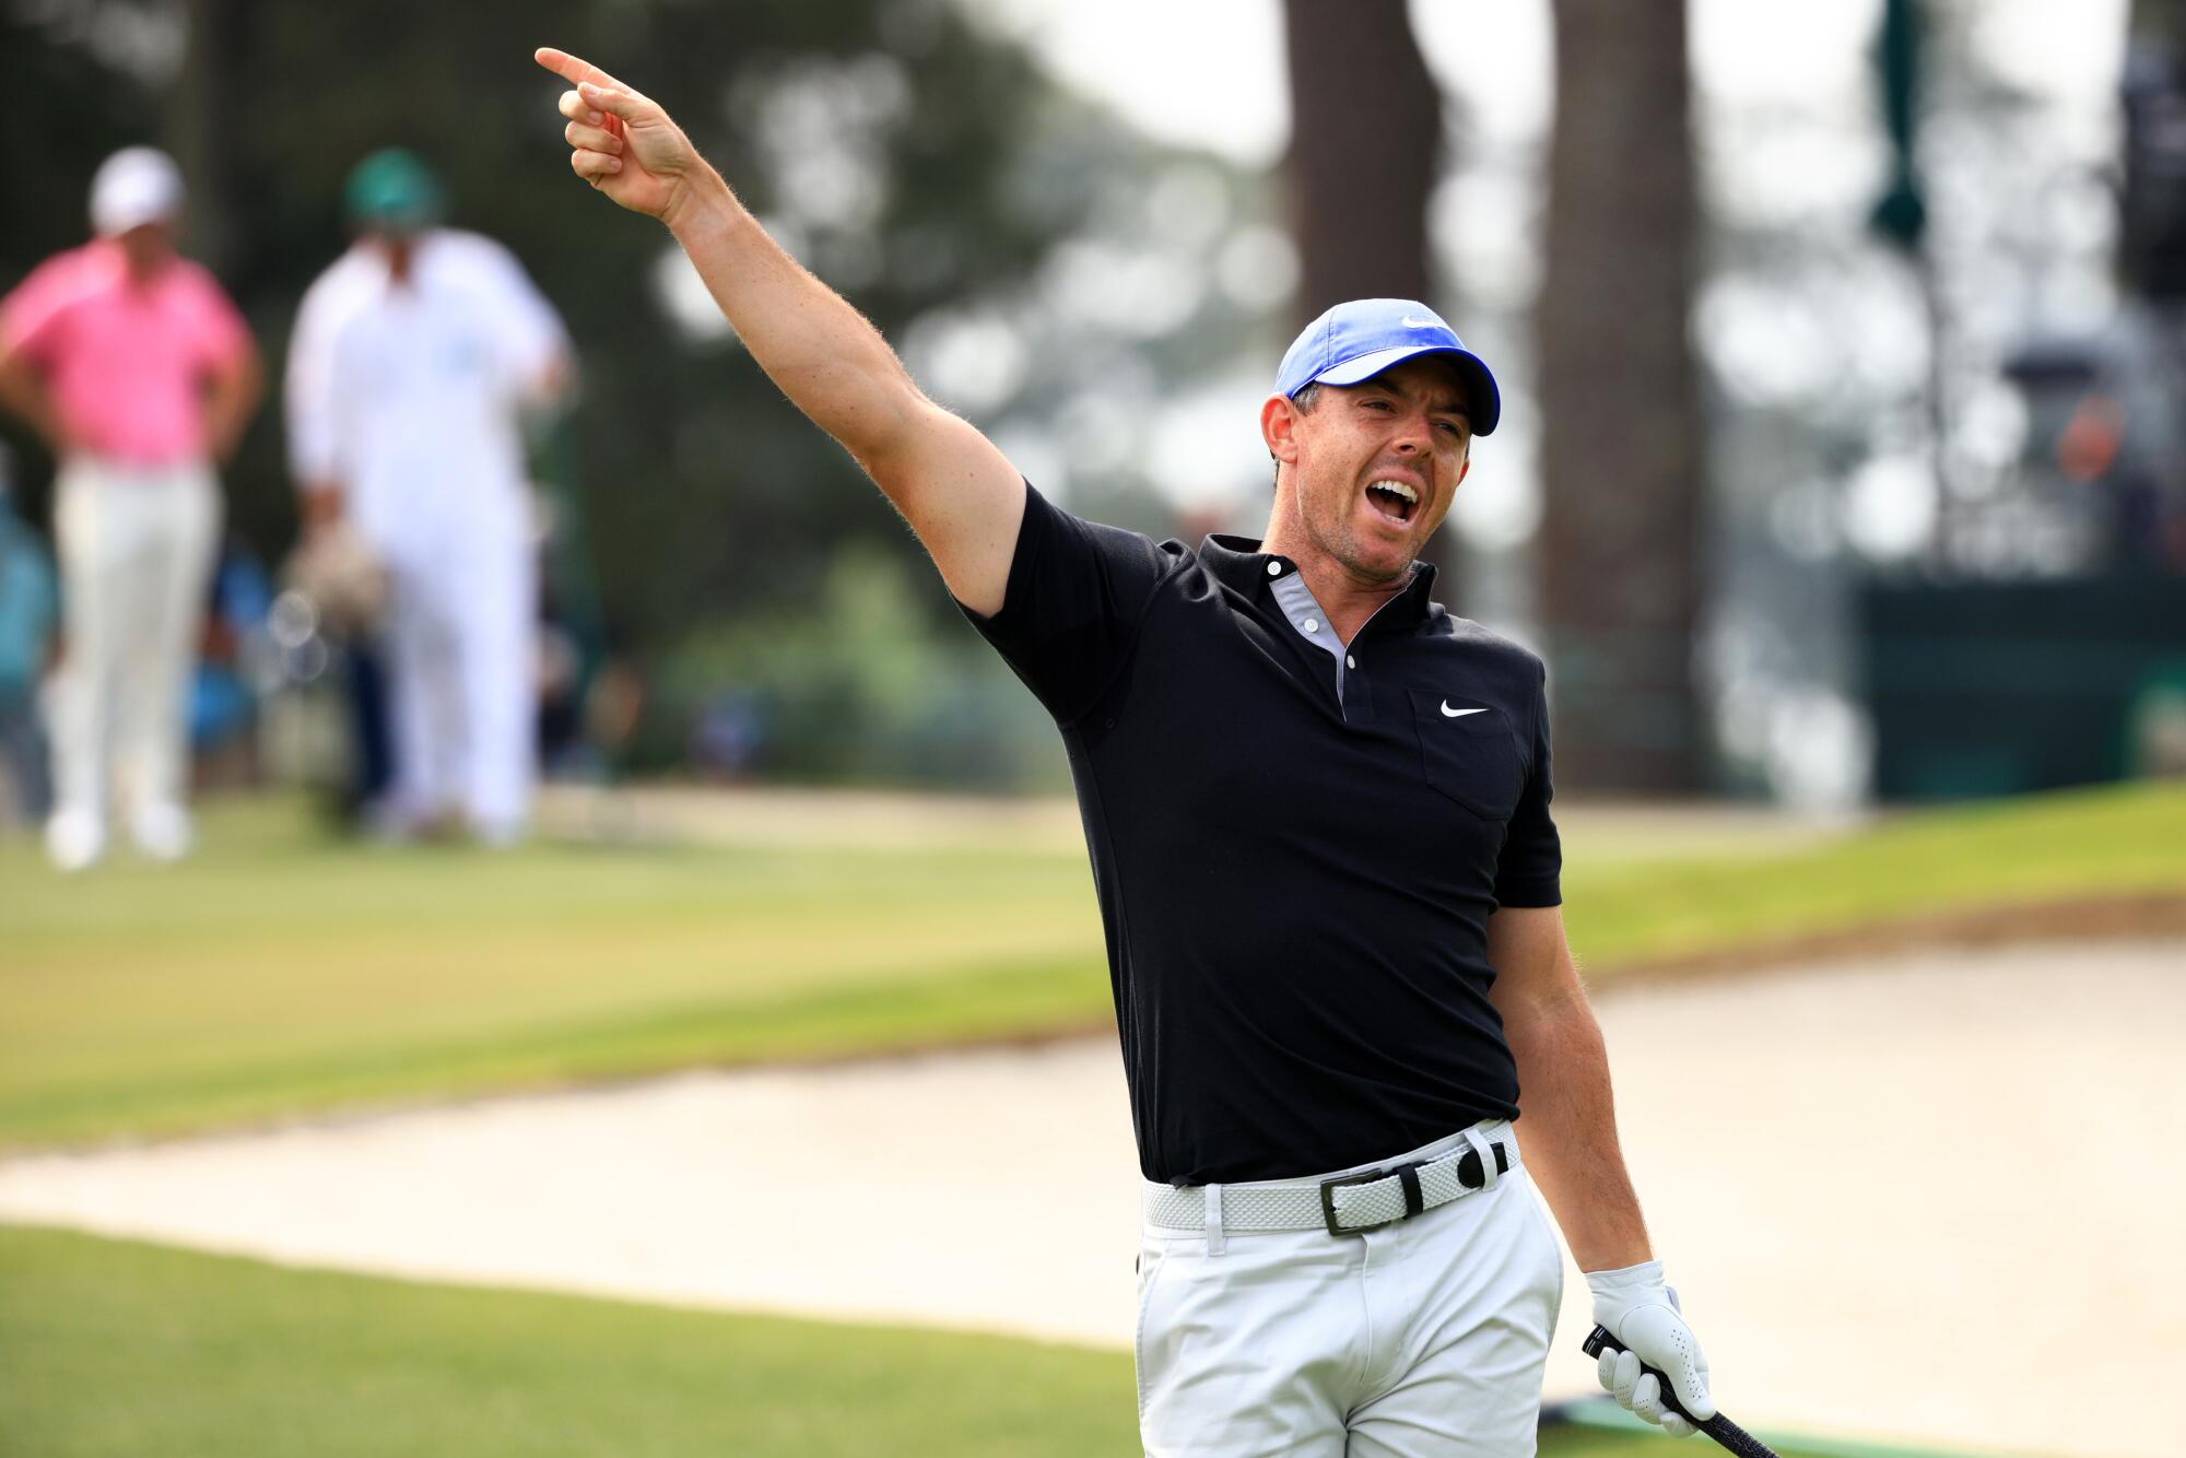
<svg viewBox="0 0 2186 1458">
<path fill-rule="evenodd" d="M 1093 1025 L 1080 855 L 393 853 L 293 804 L 173 868 L 0 848 L 0 1145 Z"/>
</svg>

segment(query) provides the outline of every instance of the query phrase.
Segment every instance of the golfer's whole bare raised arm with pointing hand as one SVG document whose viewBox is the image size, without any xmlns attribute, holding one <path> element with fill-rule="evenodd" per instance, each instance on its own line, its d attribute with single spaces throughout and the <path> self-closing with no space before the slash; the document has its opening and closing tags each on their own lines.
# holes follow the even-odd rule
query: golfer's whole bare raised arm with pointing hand
<svg viewBox="0 0 2186 1458">
<path fill-rule="evenodd" d="M 562 50 L 536 59 L 575 85 L 562 94 L 571 168 L 667 223 L 759 367 L 866 468 L 957 601 L 999 612 L 1025 514 L 1008 457 L 927 400 L 881 332 L 759 227 L 658 103 Z"/>
</svg>

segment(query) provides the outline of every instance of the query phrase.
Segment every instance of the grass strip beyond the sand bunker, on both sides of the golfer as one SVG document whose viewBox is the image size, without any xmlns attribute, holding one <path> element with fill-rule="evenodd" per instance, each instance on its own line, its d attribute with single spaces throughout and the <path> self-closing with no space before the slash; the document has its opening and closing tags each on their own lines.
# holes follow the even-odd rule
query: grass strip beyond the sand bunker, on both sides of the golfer
<svg viewBox="0 0 2186 1458">
<path fill-rule="evenodd" d="M 2024 898 L 2186 894 L 2186 787 L 1911 815 L 1825 842 L 1567 818 L 1572 942 L 1653 957 Z M 339 1104 L 1089 1027 L 1078 850 L 328 839 L 216 804 L 205 853 L 55 877 L 0 844 L 0 1148 Z"/>
</svg>

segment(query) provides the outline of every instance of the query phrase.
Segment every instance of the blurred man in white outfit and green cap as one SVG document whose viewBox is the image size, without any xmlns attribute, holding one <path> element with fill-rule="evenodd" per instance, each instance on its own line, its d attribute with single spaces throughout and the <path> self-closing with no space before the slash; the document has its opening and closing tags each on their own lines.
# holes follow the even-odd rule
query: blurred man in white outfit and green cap
<svg viewBox="0 0 2186 1458">
<path fill-rule="evenodd" d="M 393 835 L 461 813 L 522 831 L 536 778 L 538 560 L 522 413 L 568 383 L 568 337 L 516 258 L 439 225 L 439 179 L 380 151 L 350 175 L 359 240 L 313 282 L 289 439 L 313 533 L 348 522 L 387 568 Z"/>
</svg>

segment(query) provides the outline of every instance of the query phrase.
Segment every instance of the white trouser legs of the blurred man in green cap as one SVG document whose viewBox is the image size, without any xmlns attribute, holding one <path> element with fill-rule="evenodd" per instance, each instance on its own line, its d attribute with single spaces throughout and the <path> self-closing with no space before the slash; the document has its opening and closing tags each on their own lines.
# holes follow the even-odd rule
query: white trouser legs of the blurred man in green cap
<svg viewBox="0 0 2186 1458">
<path fill-rule="evenodd" d="M 461 811 L 487 839 L 531 809 L 538 568 L 520 527 L 387 551 L 398 820 Z"/>
</svg>

